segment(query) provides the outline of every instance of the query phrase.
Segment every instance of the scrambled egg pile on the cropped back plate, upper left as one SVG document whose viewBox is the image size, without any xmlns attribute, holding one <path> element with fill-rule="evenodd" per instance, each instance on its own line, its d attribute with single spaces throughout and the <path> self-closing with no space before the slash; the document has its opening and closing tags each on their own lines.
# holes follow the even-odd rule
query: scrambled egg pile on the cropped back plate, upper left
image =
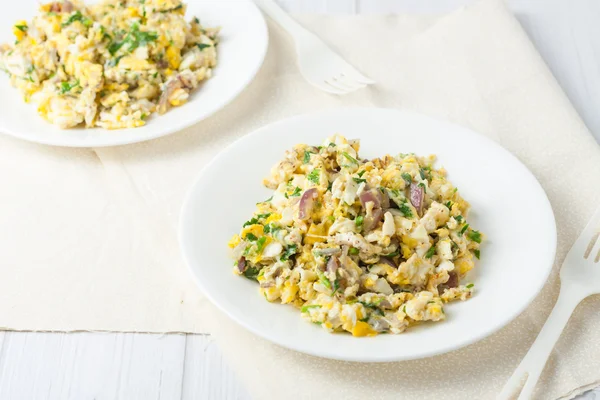
<svg viewBox="0 0 600 400">
<path fill-rule="evenodd" d="M 180 0 L 63 0 L 40 6 L 0 46 L 0 69 L 61 128 L 133 128 L 186 102 L 217 63 L 218 29 Z"/>
</svg>

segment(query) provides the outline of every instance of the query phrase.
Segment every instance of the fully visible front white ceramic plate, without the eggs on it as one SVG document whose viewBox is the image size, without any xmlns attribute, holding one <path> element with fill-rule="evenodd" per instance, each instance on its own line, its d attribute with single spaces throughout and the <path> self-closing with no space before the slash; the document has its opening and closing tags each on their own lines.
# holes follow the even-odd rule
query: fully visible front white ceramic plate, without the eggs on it
<svg viewBox="0 0 600 400">
<path fill-rule="evenodd" d="M 291 306 L 267 302 L 256 283 L 232 272 L 227 241 L 271 191 L 262 178 L 297 143 L 318 145 L 334 133 L 361 140 L 361 157 L 437 154 L 438 165 L 471 203 L 469 222 L 486 234 L 469 281 L 473 298 L 451 303 L 447 320 L 401 335 L 354 338 L 306 322 Z M 480 340 L 519 315 L 551 270 L 556 226 L 534 176 L 513 155 L 469 129 L 387 109 L 350 108 L 266 126 L 219 154 L 184 203 L 180 240 L 200 288 L 239 324 L 281 346 L 348 361 L 397 361 L 444 353 Z"/>
</svg>

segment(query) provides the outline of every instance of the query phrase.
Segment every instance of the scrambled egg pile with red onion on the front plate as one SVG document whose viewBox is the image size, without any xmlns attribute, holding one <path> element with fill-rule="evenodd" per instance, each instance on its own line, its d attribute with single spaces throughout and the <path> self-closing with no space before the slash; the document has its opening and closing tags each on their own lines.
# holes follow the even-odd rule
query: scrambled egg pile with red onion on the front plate
<svg viewBox="0 0 600 400">
<path fill-rule="evenodd" d="M 443 320 L 445 303 L 473 291 L 461 281 L 483 235 L 467 223 L 469 204 L 433 156 L 369 161 L 358 150 L 336 135 L 287 151 L 264 181 L 273 196 L 229 243 L 234 272 L 329 332 Z"/>
</svg>

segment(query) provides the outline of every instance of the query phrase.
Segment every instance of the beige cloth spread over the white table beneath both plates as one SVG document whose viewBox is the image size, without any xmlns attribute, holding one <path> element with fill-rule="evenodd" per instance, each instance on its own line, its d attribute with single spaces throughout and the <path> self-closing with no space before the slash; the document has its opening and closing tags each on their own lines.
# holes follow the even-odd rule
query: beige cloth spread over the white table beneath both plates
<svg viewBox="0 0 600 400">
<path fill-rule="evenodd" d="M 327 361 L 266 343 L 212 310 L 193 286 L 176 238 L 193 178 L 236 138 L 299 113 L 410 108 L 495 139 L 527 164 L 550 197 L 557 265 L 600 204 L 598 145 L 501 2 L 485 0 L 441 18 L 302 22 L 378 84 L 344 97 L 317 91 L 301 78 L 288 38 L 271 26 L 257 79 L 230 106 L 183 132 L 96 150 L 0 137 L 1 327 L 210 331 L 257 399 L 493 397 L 547 317 L 556 273 L 498 334 L 444 356 L 379 365 Z M 507 288 L 507 295 L 519 294 Z M 591 298 L 577 309 L 539 398 L 600 384 L 599 306 Z"/>
</svg>

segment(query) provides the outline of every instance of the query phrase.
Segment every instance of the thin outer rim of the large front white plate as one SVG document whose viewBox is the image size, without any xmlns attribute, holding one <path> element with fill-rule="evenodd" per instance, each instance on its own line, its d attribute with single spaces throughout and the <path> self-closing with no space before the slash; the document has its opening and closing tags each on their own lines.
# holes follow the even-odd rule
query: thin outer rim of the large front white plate
<svg viewBox="0 0 600 400">
<path fill-rule="evenodd" d="M 425 120 L 427 120 L 427 119 L 432 120 L 435 123 L 440 124 L 440 126 L 447 126 L 447 127 L 452 127 L 454 129 L 459 129 L 460 131 L 462 131 L 462 133 L 465 136 L 477 137 L 478 139 L 487 142 L 489 145 L 496 147 L 498 150 L 505 153 L 508 157 L 511 157 L 515 162 L 517 162 L 521 167 L 523 167 L 525 169 L 527 174 L 529 174 L 535 180 L 535 182 L 537 184 L 536 190 L 539 190 L 540 194 L 541 194 L 540 200 L 543 198 L 543 204 L 546 208 L 546 211 L 549 211 L 550 220 L 548 221 L 548 223 L 549 223 L 550 232 L 548 232 L 548 233 L 549 233 L 549 238 L 551 239 L 551 243 L 549 243 L 549 245 L 551 247 L 551 251 L 549 251 L 547 253 L 546 259 L 540 261 L 540 264 L 545 265 L 546 268 L 545 268 L 545 272 L 544 272 L 543 276 L 540 276 L 537 287 L 535 287 L 535 290 L 530 291 L 527 296 L 523 296 L 523 297 L 526 297 L 526 300 L 523 301 L 523 303 L 519 309 L 516 309 L 510 315 L 507 315 L 506 317 L 504 317 L 495 326 L 492 326 L 486 330 L 483 330 L 480 334 L 474 335 L 473 337 L 471 337 L 467 340 L 464 340 L 458 344 L 441 346 L 440 348 L 431 350 L 431 351 L 423 351 L 417 356 L 414 356 L 414 355 L 386 356 L 385 354 L 381 354 L 381 355 L 378 354 L 375 356 L 371 356 L 370 358 L 366 358 L 366 357 L 356 358 L 356 357 L 352 357 L 352 356 L 345 356 L 343 354 L 338 355 L 338 354 L 335 354 L 332 352 L 323 352 L 323 351 L 316 352 L 316 351 L 312 351 L 310 348 L 309 349 L 300 348 L 300 346 L 295 346 L 294 344 L 281 342 L 276 337 L 274 337 L 274 335 L 270 335 L 268 331 L 266 331 L 266 330 L 261 331 L 261 330 L 255 329 L 254 327 L 247 325 L 244 322 L 238 320 L 235 317 L 235 315 L 233 315 L 227 308 L 223 307 L 218 301 L 215 300 L 215 298 L 212 296 L 210 290 L 207 290 L 205 288 L 205 284 L 203 282 L 201 282 L 200 278 L 195 274 L 195 272 L 192 268 L 191 260 L 188 258 L 188 252 L 186 250 L 186 245 L 185 245 L 186 242 L 184 240 L 185 239 L 184 230 L 185 230 L 185 224 L 187 221 L 186 215 L 188 213 L 188 210 L 190 209 L 190 204 L 192 203 L 192 197 L 198 186 L 198 183 L 202 180 L 204 175 L 210 170 L 212 165 L 215 164 L 218 159 L 223 157 L 223 155 L 226 154 L 230 148 L 233 148 L 234 146 L 237 146 L 246 140 L 251 140 L 252 137 L 260 135 L 265 130 L 270 130 L 270 129 L 276 128 L 278 125 L 285 125 L 285 124 L 293 123 L 294 121 L 301 120 L 304 118 L 311 118 L 311 117 L 316 117 L 319 115 L 327 115 L 327 114 L 335 114 L 335 113 L 348 113 L 348 112 L 357 112 L 357 113 L 358 112 L 382 112 L 382 113 L 397 113 L 399 115 L 404 114 L 404 115 L 409 115 L 411 117 L 421 118 L 421 119 L 425 119 Z M 396 108 L 386 108 L 386 107 L 361 107 L 361 106 L 336 107 L 333 109 L 302 113 L 302 114 L 293 115 L 293 116 L 290 116 L 287 118 L 279 119 L 277 121 L 273 121 L 264 126 L 261 126 L 257 129 L 254 129 L 250 133 L 247 133 L 247 134 L 239 137 L 238 139 L 236 139 L 235 141 L 233 141 L 232 143 L 227 145 L 225 148 L 220 150 L 218 152 L 218 154 L 216 154 L 202 168 L 202 170 L 198 173 L 198 175 L 194 179 L 193 183 L 187 190 L 185 197 L 184 197 L 184 201 L 182 202 L 181 210 L 180 210 L 177 235 L 178 235 L 180 251 L 182 253 L 184 262 L 186 264 L 186 268 L 187 268 L 188 272 L 191 274 L 192 279 L 194 280 L 194 282 L 196 283 L 198 288 L 202 291 L 204 296 L 206 296 L 206 298 L 213 304 L 213 306 L 217 307 L 222 313 L 224 313 L 230 320 L 234 321 L 238 326 L 246 329 L 250 333 L 252 333 L 262 339 L 269 341 L 270 343 L 276 344 L 280 347 L 283 347 L 283 348 L 286 348 L 289 350 L 293 350 L 293 351 L 296 351 L 299 353 L 308 354 L 308 355 L 319 357 L 319 358 L 332 359 L 332 360 L 338 360 L 338 361 L 359 362 L 359 363 L 397 362 L 397 361 L 409 361 L 409 360 L 418 360 L 418 359 L 423 359 L 423 358 L 434 357 L 437 355 L 450 353 L 450 352 L 462 349 L 464 347 L 470 346 L 474 343 L 477 343 L 477 342 L 497 333 L 501 329 L 505 328 L 509 323 L 513 322 L 525 310 L 527 310 L 527 308 L 529 308 L 529 306 L 531 305 L 533 300 L 535 300 L 538 297 L 538 295 L 541 293 L 542 289 L 544 288 L 544 286 L 546 285 L 546 283 L 550 277 L 550 274 L 552 273 L 554 262 L 556 260 L 556 251 L 557 251 L 557 243 L 558 243 L 556 217 L 554 215 L 554 210 L 552 208 L 550 199 L 548 198 L 548 195 L 546 194 L 546 191 L 540 184 L 537 177 L 533 174 L 533 172 L 531 172 L 531 170 L 523 162 L 521 162 L 521 160 L 519 160 L 512 152 L 510 152 L 509 150 L 507 150 L 506 148 L 501 146 L 496 141 L 490 139 L 489 137 L 487 137 L 483 134 L 480 134 L 471 128 L 468 128 L 466 126 L 463 126 L 463 125 L 460 125 L 460 124 L 457 124 L 457 123 L 454 123 L 454 122 L 451 122 L 448 120 L 444 120 L 444 119 L 441 119 L 438 117 L 426 115 L 423 113 L 418 113 L 416 111 L 407 110 L 407 109 L 396 109 Z M 356 339 L 360 340 L 360 339 L 365 339 L 365 338 L 356 338 Z"/>
</svg>

